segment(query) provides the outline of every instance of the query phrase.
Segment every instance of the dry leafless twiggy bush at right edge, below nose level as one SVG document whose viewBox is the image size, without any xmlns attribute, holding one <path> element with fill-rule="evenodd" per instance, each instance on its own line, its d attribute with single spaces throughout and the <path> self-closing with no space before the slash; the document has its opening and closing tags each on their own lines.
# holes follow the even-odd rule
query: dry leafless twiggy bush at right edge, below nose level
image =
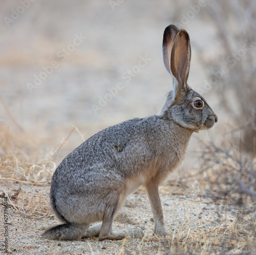
<svg viewBox="0 0 256 255">
<path fill-rule="evenodd" d="M 234 141 L 205 146 L 201 169 L 205 190 L 216 199 L 256 208 L 256 159 L 242 153 Z"/>
</svg>

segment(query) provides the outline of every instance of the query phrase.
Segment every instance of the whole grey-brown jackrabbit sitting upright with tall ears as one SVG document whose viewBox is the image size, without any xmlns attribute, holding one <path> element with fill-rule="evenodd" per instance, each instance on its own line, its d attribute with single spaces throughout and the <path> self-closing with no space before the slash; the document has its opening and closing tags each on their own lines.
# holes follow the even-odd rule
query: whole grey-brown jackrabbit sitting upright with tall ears
<svg viewBox="0 0 256 255">
<path fill-rule="evenodd" d="M 50 239 L 120 240 L 143 237 L 143 231 L 113 231 L 112 223 L 127 195 L 144 185 L 155 230 L 166 236 L 158 186 L 186 154 L 193 132 L 209 129 L 217 115 L 187 85 L 190 64 L 188 33 L 168 26 L 163 34 L 163 61 L 173 78 L 160 113 L 106 128 L 82 143 L 58 166 L 50 192 L 51 207 L 64 224 L 45 231 Z M 102 223 L 90 227 L 90 223 Z"/>
</svg>

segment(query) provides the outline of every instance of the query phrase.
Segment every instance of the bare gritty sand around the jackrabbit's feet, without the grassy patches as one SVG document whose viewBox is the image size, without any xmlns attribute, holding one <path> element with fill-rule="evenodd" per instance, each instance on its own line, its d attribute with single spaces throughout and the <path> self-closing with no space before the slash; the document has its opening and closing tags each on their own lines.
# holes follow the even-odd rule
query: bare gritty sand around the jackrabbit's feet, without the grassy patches
<svg viewBox="0 0 256 255">
<path fill-rule="evenodd" d="M 18 183 L 1 182 L 1 188 L 10 194 L 15 193 L 19 187 Z M 14 204 L 16 206 L 24 205 L 26 204 L 25 199 L 31 202 L 31 198 L 38 200 L 40 197 L 40 204 L 37 204 L 37 208 L 42 204 L 49 205 L 49 189 L 50 186 L 25 185 Z M 50 211 L 49 216 L 40 218 L 40 214 L 25 216 L 9 207 L 8 252 L 11 254 L 122 254 L 122 252 L 123 254 L 168 254 L 174 249 L 174 247 L 170 248 L 172 238 L 183 240 L 187 235 L 194 237 L 195 245 L 198 242 L 198 237 L 201 236 L 200 250 L 202 254 L 209 254 L 212 250 L 218 251 L 218 248 L 210 242 L 207 244 L 207 237 L 210 240 L 215 235 L 216 229 L 236 220 L 237 209 L 235 206 L 232 209 L 232 206 L 229 207 L 229 211 L 226 212 L 223 210 L 223 204 L 203 199 L 196 193 L 185 193 L 177 186 L 160 187 L 160 197 L 166 228 L 170 234 L 167 239 L 153 236 L 152 212 L 143 188 L 127 198 L 113 225 L 114 229 L 121 229 L 127 225 L 142 227 L 145 232 L 143 240 L 104 240 L 101 242 L 98 241 L 98 238 L 82 239 L 81 241 L 47 240 L 41 237 L 41 234 L 48 227 L 59 224 Z M 21 210 L 23 213 L 31 213 L 28 210 L 29 206 L 25 205 L 24 208 L 24 211 Z M 244 240 L 245 244 L 246 240 Z M 228 247 L 220 247 L 220 250 L 225 248 Z M 195 248 L 196 253 L 199 252 L 197 249 Z M 1 250 L 3 251 L 2 247 Z M 184 249 L 181 250 L 184 251 Z"/>
</svg>

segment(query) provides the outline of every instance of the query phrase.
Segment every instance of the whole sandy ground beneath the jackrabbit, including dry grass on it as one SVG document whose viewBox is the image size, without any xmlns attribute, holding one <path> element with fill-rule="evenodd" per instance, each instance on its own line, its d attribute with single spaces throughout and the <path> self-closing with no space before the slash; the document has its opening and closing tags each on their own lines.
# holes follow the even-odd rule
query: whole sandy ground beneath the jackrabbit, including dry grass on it
<svg viewBox="0 0 256 255">
<path fill-rule="evenodd" d="M 19 183 L 1 181 L 1 189 L 14 194 Z M 114 229 L 136 225 L 144 229 L 142 240 L 99 242 L 98 238 L 80 241 L 52 241 L 41 237 L 48 227 L 59 224 L 49 208 L 50 186 L 23 185 L 17 199 L 8 207 L 8 252 L 12 254 L 168 254 L 194 251 L 240 252 L 252 248 L 252 234 L 248 226 L 253 214 L 238 218 L 239 207 L 215 203 L 196 192 L 185 192 L 169 185 L 160 188 L 164 218 L 169 236 L 153 236 L 154 221 L 147 195 L 143 188 L 127 198 L 115 218 Z M 177 188 L 177 187 L 176 187 Z M 177 194 L 178 193 L 178 194 Z M 40 199 L 39 199 L 40 198 Z M 39 199 L 39 200 L 38 200 Z M 23 206 L 22 206 L 23 204 Z M 33 212 L 33 213 L 32 213 Z M 254 215 L 255 217 L 255 215 Z M 1 247 L 3 250 L 3 247 Z"/>
</svg>

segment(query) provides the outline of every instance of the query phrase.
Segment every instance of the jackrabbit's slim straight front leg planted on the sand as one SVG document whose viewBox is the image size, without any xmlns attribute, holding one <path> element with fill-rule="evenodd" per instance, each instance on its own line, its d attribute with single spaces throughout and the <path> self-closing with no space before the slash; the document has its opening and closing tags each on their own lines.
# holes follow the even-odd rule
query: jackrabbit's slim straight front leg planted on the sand
<svg viewBox="0 0 256 255">
<path fill-rule="evenodd" d="M 148 198 L 150 199 L 150 204 L 153 212 L 153 218 L 155 223 L 154 234 L 156 234 L 157 236 L 165 237 L 168 234 L 164 227 L 163 210 L 158 192 L 158 184 L 154 180 L 148 182 L 146 184 L 146 190 Z"/>
</svg>

